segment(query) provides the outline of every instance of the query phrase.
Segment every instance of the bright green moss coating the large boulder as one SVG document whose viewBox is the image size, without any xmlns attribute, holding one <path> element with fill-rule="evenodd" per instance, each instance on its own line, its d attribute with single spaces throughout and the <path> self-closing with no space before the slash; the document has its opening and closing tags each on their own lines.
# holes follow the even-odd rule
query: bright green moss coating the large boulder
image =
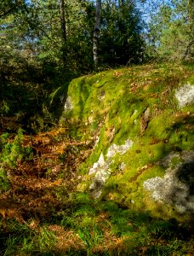
<svg viewBox="0 0 194 256">
<path fill-rule="evenodd" d="M 163 177 L 164 169 L 156 163 L 169 152 L 194 148 L 194 107 L 180 110 L 174 98 L 174 89 L 187 82 L 193 83 L 191 67 L 169 64 L 120 68 L 71 81 L 67 95 L 73 109 L 61 115 L 71 124 L 71 136 L 83 140 L 99 136 L 92 154 L 79 166 L 79 173 L 89 179 L 88 169 L 101 153 L 106 158 L 112 143 L 133 141 L 127 153 L 113 158 L 104 198 L 155 211 L 157 216 L 174 216 L 168 207 L 151 200 L 143 183 L 151 177 Z M 60 91 L 52 98 L 59 96 Z M 147 108 L 150 113 L 142 130 Z M 121 163 L 126 165 L 123 170 Z M 173 160 L 172 165 L 175 164 Z M 89 180 L 85 183 L 87 187 Z"/>
</svg>

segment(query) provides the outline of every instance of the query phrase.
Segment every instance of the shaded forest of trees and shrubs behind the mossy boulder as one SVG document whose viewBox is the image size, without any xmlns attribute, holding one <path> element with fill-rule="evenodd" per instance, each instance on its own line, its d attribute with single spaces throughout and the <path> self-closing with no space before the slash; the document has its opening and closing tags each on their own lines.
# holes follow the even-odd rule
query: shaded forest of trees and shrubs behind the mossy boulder
<svg viewBox="0 0 194 256">
<path fill-rule="evenodd" d="M 95 67 L 97 2 L 101 9 Z M 54 88 L 82 74 L 149 61 L 193 61 L 191 0 L 96 3 L 89 0 L 1 1 L 2 117 L 14 115 L 21 122 L 33 119 L 32 115 Z M 1 122 L 3 126 L 3 119 Z M 26 124 L 26 129 L 28 126 L 31 130 L 31 124 Z"/>
</svg>

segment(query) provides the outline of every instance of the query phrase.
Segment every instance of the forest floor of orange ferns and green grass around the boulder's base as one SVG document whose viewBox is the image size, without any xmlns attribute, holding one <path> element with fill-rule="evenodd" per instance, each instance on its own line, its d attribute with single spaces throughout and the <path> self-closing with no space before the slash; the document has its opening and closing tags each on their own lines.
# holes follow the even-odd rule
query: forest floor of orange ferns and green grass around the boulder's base
<svg viewBox="0 0 194 256">
<path fill-rule="evenodd" d="M 94 142 L 66 134 L 59 127 L 22 137 L 31 155 L 9 169 L 0 195 L 0 255 L 192 255 L 191 227 L 77 192 L 77 166 Z"/>
</svg>

